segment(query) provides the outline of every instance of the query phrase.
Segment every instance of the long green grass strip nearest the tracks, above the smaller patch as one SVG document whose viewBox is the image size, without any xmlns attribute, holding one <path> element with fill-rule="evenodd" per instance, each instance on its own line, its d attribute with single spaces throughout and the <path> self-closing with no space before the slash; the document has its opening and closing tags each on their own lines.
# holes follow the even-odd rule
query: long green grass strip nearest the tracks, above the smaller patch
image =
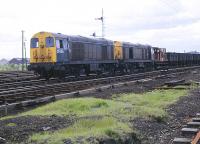
<svg viewBox="0 0 200 144">
<path fill-rule="evenodd" d="M 155 90 L 144 94 L 120 94 L 112 100 L 76 98 L 57 101 L 21 115 L 112 115 L 117 117 L 162 117 L 164 108 L 186 95 L 186 90 Z"/>
</svg>

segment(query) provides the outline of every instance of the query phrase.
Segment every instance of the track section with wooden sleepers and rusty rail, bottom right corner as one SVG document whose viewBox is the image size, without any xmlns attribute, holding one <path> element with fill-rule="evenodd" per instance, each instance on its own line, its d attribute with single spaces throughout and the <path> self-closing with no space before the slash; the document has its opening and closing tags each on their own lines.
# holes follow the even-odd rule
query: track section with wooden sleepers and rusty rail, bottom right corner
<svg viewBox="0 0 200 144">
<path fill-rule="evenodd" d="M 183 126 L 181 137 L 175 138 L 173 144 L 200 144 L 200 113 Z"/>
</svg>

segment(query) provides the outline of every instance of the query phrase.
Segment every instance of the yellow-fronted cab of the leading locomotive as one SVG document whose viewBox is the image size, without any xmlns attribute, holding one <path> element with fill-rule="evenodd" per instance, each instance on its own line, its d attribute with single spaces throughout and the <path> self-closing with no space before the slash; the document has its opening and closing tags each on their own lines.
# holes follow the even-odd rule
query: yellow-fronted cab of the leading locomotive
<svg viewBox="0 0 200 144">
<path fill-rule="evenodd" d="M 57 63 L 67 61 L 66 40 L 56 37 L 53 33 L 39 32 L 31 38 L 29 70 L 42 77 L 55 75 L 59 69 Z"/>
</svg>

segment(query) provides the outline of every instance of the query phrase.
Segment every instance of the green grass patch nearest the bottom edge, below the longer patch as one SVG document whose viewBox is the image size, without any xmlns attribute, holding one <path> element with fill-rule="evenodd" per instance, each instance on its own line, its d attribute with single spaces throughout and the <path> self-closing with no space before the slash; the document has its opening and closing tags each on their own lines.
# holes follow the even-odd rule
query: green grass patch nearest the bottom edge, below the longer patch
<svg viewBox="0 0 200 144">
<path fill-rule="evenodd" d="M 54 133 L 45 132 L 34 134 L 30 137 L 29 142 L 37 143 L 63 143 L 63 139 L 76 139 L 78 137 L 114 137 L 118 138 L 118 133 L 131 132 L 127 124 L 119 122 L 113 117 L 104 117 L 102 119 L 84 119 L 77 121 L 71 127 L 58 130 Z"/>
</svg>

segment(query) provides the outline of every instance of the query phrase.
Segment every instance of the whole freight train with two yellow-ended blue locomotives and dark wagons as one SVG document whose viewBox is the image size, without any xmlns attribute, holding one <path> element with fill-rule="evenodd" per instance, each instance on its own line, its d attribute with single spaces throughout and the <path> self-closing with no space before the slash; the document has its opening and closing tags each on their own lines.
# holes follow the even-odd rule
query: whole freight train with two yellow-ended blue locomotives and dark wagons
<svg viewBox="0 0 200 144">
<path fill-rule="evenodd" d="M 39 32 L 30 42 L 30 65 L 42 77 L 91 73 L 133 73 L 200 64 L 199 54 L 166 53 L 165 48 L 104 38 Z"/>
</svg>

